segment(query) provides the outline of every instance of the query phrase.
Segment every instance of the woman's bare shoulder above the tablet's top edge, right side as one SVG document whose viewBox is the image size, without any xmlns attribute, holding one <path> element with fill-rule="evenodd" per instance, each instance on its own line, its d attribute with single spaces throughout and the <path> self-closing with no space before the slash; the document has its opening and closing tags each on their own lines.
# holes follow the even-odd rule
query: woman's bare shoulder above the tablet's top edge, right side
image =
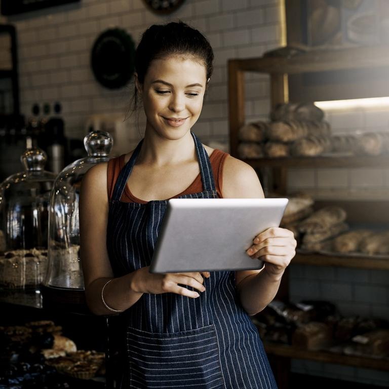
<svg viewBox="0 0 389 389">
<path fill-rule="evenodd" d="M 262 186 L 255 170 L 237 158 L 228 157 L 223 167 L 224 198 L 263 198 Z"/>
</svg>

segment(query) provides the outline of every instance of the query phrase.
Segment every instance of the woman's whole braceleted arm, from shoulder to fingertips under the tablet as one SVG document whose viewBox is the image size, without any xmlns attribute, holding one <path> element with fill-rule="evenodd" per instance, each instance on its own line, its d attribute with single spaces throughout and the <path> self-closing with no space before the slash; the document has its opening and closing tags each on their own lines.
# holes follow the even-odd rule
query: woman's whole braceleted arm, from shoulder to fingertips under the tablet
<svg viewBox="0 0 389 389">
<path fill-rule="evenodd" d="M 123 277 L 113 278 L 106 247 L 108 221 L 107 165 L 92 167 L 83 178 L 80 196 L 81 263 L 83 266 L 85 294 L 91 312 L 112 315 L 112 309 L 126 310 L 134 305 L 143 293 L 177 293 L 196 298 L 199 293 L 180 285 L 204 291 L 203 276 L 198 272 L 182 274 L 150 274 L 149 267 L 142 267 Z"/>
</svg>

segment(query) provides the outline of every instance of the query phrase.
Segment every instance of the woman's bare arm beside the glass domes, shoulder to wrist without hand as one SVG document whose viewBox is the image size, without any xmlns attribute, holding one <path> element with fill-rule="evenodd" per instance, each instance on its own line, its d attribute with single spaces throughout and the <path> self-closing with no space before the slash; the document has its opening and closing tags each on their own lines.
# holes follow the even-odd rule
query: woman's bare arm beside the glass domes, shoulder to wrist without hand
<svg viewBox="0 0 389 389">
<path fill-rule="evenodd" d="M 113 279 L 109 263 L 106 232 L 108 220 L 107 164 L 92 167 L 84 176 L 80 195 L 80 240 L 85 294 L 88 306 L 96 315 L 111 315 L 101 299 L 104 284 Z M 134 274 L 113 279 L 104 289 L 106 304 L 125 310 L 135 304 L 142 293 L 132 287 Z"/>
</svg>

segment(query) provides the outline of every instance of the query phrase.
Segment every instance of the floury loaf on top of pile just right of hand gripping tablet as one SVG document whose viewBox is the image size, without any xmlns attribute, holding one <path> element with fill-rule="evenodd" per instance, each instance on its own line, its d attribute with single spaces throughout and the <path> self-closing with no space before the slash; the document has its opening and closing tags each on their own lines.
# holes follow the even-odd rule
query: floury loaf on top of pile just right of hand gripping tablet
<svg viewBox="0 0 389 389">
<path fill-rule="evenodd" d="M 334 224 L 344 221 L 346 216 L 346 211 L 344 211 L 343 208 L 328 206 L 314 212 L 312 215 L 302 220 L 298 228 L 300 232 L 307 232 L 308 234 L 325 232 Z"/>
</svg>

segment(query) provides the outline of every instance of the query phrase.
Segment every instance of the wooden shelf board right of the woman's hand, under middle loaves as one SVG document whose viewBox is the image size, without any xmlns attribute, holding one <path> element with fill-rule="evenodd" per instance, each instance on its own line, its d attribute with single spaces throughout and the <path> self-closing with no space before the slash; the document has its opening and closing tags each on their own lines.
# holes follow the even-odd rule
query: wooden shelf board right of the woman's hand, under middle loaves
<svg viewBox="0 0 389 389">
<path fill-rule="evenodd" d="M 389 270 L 389 259 L 374 257 L 346 257 L 325 254 L 297 253 L 291 263 L 314 266 L 356 267 L 360 269 Z"/>
</svg>

